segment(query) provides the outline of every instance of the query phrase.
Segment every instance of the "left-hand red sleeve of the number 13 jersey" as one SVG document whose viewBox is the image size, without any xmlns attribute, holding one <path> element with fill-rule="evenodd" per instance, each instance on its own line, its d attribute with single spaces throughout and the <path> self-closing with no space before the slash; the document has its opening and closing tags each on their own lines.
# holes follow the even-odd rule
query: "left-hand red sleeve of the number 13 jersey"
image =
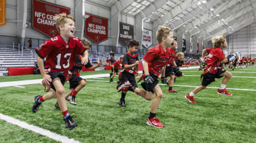
<svg viewBox="0 0 256 143">
<path fill-rule="evenodd" d="M 37 49 L 35 49 L 35 52 L 37 52 L 38 56 L 40 56 L 40 58 L 45 58 L 49 53 L 52 52 L 52 50 L 54 50 L 54 46 L 53 42 L 51 41 L 51 39 L 48 39 L 44 42 L 44 44 L 39 45 L 39 47 Z"/>
</svg>

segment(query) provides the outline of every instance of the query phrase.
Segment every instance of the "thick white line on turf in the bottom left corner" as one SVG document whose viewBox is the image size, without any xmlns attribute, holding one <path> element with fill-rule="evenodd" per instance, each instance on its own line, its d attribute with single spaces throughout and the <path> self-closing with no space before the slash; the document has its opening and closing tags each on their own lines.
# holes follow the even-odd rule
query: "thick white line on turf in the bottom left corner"
<svg viewBox="0 0 256 143">
<path fill-rule="evenodd" d="M 27 124 L 27 122 L 20 121 L 18 119 L 12 118 L 10 116 L 2 115 L 1 113 L 0 113 L 0 119 L 4 120 L 6 122 L 10 122 L 11 124 L 18 125 L 21 128 L 25 128 L 27 130 L 34 131 L 35 133 L 39 133 L 40 135 L 47 136 L 48 138 L 54 139 L 55 141 L 67 142 L 67 143 L 68 142 L 79 142 L 79 141 L 75 141 L 74 139 L 69 139 L 66 136 L 52 133 L 49 130 L 44 130 L 43 128 L 40 128 L 40 127 L 37 127 L 34 125 L 29 125 L 29 124 Z"/>
</svg>

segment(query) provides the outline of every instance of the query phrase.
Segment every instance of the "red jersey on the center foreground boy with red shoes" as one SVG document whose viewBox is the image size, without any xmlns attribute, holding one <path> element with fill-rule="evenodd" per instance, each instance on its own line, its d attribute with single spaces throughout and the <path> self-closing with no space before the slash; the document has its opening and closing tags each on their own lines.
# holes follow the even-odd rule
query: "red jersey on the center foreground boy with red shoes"
<svg viewBox="0 0 256 143">
<path fill-rule="evenodd" d="M 148 50 L 144 60 L 149 63 L 149 73 L 160 75 L 165 65 L 169 62 L 170 51 L 168 48 L 163 50 L 160 44 Z"/>
</svg>

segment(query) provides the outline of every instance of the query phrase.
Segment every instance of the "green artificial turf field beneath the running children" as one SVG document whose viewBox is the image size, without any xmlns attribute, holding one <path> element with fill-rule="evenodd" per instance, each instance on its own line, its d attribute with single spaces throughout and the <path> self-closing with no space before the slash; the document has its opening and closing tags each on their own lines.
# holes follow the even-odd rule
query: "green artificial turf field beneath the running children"
<svg viewBox="0 0 256 143">
<path fill-rule="evenodd" d="M 86 71 L 81 75 L 105 76 L 108 72 Z M 233 78 L 227 89 L 233 96 L 218 95 L 216 88 L 222 79 L 216 79 L 210 88 L 195 96 L 197 104 L 190 104 L 184 96 L 200 85 L 201 71 L 189 69 L 182 72 L 185 76 L 177 78 L 174 84 L 178 93 L 168 93 L 168 87 L 160 85 L 164 96 L 157 118 L 165 128 L 146 125 L 151 101 L 135 93 L 128 92 L 127 107 L 119 107 L 121 93 L 116 93 L 116 83 L 108 82 L 109 78 L 104 76 L 87 76 L 86 87 L 77 94 L 77 105 L 68 104 L 68 110 L 71 116 L 76 116 L 74 121 L 78 124 L 74 130 L 65 128 L 62 113 L 54 108 L 55 99 L 44 102 L 37 113 L 32 113 L 34 96 L 44 94 L 41 84 L 24 85 L 23 82 L 18 85 L 20 87 L 0 87 L 0 114 L 79 142 L 256 142 L 256 67 L 231 71 Z M 0 85 L 40 78 L 40 75 L 1 77 Z M 65 89 L 68 87 L 66 83 Z M 140 84 L 138 87 L 141 88 Z M 0 125 L 2 142 L 60 141 L 4 120 L 0 120 Z"/>
</svg>

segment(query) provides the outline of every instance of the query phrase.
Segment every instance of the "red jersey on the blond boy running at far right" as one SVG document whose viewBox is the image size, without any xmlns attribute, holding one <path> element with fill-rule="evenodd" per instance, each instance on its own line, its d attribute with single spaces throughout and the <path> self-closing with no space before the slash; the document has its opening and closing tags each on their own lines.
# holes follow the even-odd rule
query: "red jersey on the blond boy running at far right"
<svg viewBox="0 0 256 143">
<path fill-rule="evenodd" d="M 217 73 L 219 65 L 221 65 L 221 60 L 225 58 L 221 48 L 207 48 L 206 52 L 208 53 L 208 58 L 205 59 L 207 66 L 205 70 L 208 70 L 210 73 Z"/>
</svg>

